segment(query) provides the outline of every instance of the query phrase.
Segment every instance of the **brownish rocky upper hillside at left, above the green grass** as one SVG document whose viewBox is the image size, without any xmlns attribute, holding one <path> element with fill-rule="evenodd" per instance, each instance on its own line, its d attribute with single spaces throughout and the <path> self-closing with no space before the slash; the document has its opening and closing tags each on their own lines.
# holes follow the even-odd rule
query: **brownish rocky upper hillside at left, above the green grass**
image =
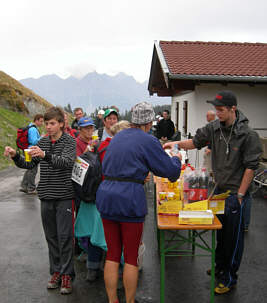
<svg viewBox="0 0 267 303">
<path fill-rule="evenodd" d="M 0 71 L 0 106 L 34 116 L 43 113 L 52 104 Z"/>
</svg>

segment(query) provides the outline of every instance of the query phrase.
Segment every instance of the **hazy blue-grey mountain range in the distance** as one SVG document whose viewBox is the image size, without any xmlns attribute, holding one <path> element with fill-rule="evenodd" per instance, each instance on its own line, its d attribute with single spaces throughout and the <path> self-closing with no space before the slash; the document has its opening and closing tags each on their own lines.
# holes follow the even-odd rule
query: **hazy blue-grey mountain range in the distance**
<svg viewBox="0 0 267 303">
<path fill-rule="evenodd" d="M 147 81 L 139 83 L 124 73 L 109 76 L 92 72 L 81 79 L 73 76 L 62 79 L 52 74 L 20 82 L 54 105 L 70 104 L 72 108 L 82 107 L 87 113 L 99 106 L 111 105 L 125 111 L 139 101 L 148 101 L 154 105 L 171 103 L 170 98 L 150 97 Z"/>
</svg>

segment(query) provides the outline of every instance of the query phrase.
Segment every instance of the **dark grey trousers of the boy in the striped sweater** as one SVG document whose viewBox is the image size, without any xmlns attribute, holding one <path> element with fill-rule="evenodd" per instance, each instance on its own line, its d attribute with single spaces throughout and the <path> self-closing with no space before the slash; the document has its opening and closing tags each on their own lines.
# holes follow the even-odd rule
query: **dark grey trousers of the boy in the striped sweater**
<svg viewBox="0 0 267 303">
<path fill-rule="evenodd" d="M 72 200 L 42 200 L 41 217 L 50 274 L 60 272 L 74 277 Z"/>
</svg>

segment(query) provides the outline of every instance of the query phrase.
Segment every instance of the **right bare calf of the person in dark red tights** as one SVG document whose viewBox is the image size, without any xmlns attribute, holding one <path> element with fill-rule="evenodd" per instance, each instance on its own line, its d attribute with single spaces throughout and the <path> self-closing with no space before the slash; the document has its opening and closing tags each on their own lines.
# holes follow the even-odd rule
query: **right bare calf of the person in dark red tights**
<svg viewBox="0 0 267 303">
<path fill-rule="evenodd" d="M 126 303 L 134 303 L 138 282 L 138 267 L 131 264 L 124 264 L 123 285 L 125 289 Z"/>
</svg>

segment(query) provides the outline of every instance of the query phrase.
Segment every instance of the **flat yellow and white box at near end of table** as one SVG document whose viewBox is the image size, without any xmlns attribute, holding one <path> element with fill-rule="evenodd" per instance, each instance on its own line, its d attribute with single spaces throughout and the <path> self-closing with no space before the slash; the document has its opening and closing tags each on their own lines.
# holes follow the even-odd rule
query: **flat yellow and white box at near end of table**
<svg viewBox="0 0 267 303">
<path fill-rule="evenodd" d="M 211 210 L 181 210 L 179 212 L 179 224 L 212 224 L 213 219 L 214 215 Z"/>
</svg>

